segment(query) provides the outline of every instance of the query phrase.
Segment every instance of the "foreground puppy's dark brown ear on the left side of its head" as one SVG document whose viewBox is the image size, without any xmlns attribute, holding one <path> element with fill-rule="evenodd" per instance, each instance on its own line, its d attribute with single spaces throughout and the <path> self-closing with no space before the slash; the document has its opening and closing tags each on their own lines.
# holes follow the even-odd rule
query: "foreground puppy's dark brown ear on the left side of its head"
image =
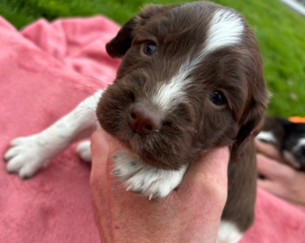
<svg viewBox="0 0 305 243">
<path fill-rule="evenodd" d="M 135 37 L 136 32 L 143 26 L 151 17 L 160 13 L 165 8 L 160 5 L 146 5 L 143 10 L 128 20 L 110 42 L 106 44 L 106 50 L 109 56 L 113 58 L 122 58 L 127 50 L 131 47 L 131 42 Z"/>
</svg>

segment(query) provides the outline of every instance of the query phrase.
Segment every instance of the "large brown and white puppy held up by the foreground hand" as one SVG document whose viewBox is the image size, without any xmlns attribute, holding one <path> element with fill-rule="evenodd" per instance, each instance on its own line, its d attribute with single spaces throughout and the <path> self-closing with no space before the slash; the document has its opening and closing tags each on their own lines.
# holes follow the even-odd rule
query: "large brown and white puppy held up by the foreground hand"
<svg viewBox="0 0 305 243">
<path fill-rule="evenodd" d="M 127 190 L 163 198 L 200 154 L 229 145 L 228 199 L 217 242 L 239 241 L 254 219 L 253 138 L 268 96 L 257 41 L 244 17 L 206 1 L 148 5 L 106 49 L 123 58 L 113 84 L 95 94 L 102 129 L 124 147 L 113 157 L 113 175 Z M 93 97 L 84 103 L 96 105 Z M 8 171 L 32 176 L 71 142 L 88 136 L 92 120 L 78 114 L 80 109 L 39 134 L 13 140 L 5 154 Z M 77 149 L 86 160 L 88 145 Z"/>
</svg>

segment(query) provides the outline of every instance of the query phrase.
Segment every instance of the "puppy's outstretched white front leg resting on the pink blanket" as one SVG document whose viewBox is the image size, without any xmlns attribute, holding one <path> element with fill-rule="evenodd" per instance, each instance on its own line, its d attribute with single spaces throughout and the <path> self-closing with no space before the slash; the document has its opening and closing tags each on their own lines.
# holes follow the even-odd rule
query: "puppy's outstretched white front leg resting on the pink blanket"
<svg viewBox="0 0 305 243">
<path fill-rule="evenodd" d="M 19 174 L 21 179 L 31 177 L 72 143 L 90 136 L 98 126 L 95 107 L 102 92 L 88 97 L 42 132 L 12 140 L 12 147 L 4 155 L 7 171 Z"/>
</svg>

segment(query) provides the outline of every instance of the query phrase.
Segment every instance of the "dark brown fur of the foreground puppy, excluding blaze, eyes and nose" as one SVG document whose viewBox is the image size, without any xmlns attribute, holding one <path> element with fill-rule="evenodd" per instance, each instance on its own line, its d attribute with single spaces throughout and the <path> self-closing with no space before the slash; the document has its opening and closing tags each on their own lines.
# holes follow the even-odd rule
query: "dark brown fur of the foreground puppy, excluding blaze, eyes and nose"
<svg viewBox="0 0 305 243">
<path fill-rule="evenodd" d="M 223 219 L 234 219 L 246 230 L 254 217 L 253 138 L 262 126 L 267 91 L 260 51 L 244 19 L 242 42 L 214 51 L 202 60 L 190 75 L 187 95 L 164 114 L 159 132 L 142 136 L 134 133 L 127 122 L 133 102 L 148 102 L 147 93 L 168 82 L 181 63 L 198 53 L 208 23 L 219 8 L 224 7 L 205 1 L 166 7 L 149 5 L 129 20 L 106 46 L 110 56 L 124 57 L 116 80 L 99 102 L 97 116 L 105 131 L 158 168 L 176 170 L 193 163 L 212 147 L 231 146 Z M 142 51 L 148 42 L 158 47 L 153 57 Z M 227 105 L 218 107 L 210 102 L 209 94 L 215 90 L 224 93 Z"/>
</svg>

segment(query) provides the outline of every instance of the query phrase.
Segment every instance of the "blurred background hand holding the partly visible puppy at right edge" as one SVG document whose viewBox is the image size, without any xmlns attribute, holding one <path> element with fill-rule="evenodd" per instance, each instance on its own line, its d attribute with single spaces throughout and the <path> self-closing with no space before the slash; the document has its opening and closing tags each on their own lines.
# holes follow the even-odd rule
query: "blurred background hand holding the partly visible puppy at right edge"
<svg viewBox="0 0 305 243">
<path fill-rule="evenodd" d="M 268 192 L 305 207 L 305 173 L 286 165 L 281 153 L 270 143 L 255 140 L 257 172 L 265 179 L 257 179 L 257 186 Z"/>
</svg>

